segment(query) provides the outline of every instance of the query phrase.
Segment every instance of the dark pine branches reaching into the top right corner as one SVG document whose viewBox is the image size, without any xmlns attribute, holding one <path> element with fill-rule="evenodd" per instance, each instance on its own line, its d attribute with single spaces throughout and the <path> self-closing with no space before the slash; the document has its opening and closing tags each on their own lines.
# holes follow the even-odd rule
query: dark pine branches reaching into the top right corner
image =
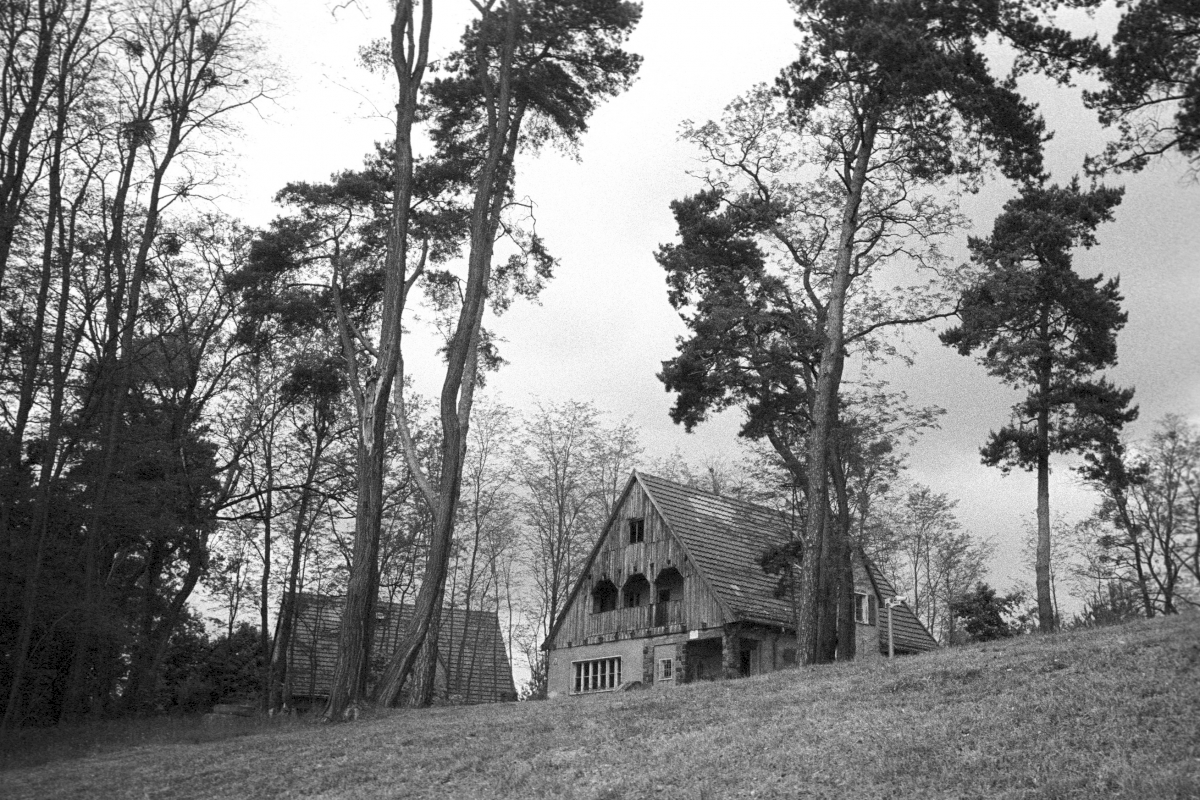
<svg viewBox="0 0 1200 800">
<path fill-rule="evenodd" d="M 1098 5 L 1096 0 L 1086 5 Z M 1129 0 L 1112 42 L 1090 66 L 1104 88 L 1084 92 L 1116 140 L 1090 172 L 1138 172 L 1169 154 L 1200 166 L 1200 7 L 1195 0 Z"/>
</svg>

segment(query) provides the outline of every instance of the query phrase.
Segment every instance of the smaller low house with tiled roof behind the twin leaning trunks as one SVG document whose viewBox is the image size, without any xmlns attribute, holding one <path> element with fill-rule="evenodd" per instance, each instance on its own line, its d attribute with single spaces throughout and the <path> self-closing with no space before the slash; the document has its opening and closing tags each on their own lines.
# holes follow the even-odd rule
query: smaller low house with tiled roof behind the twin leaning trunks
<svg viewBox="0 0 1200 800">
<path fill-rule="evenodd" d="M 344 597 L 302 593 L 296 599 L 290 686 L 292 697 L 300 705 L 329 697 L 344 607 Z M 400 644 L 412 615 L 413 607 L 408 604 L 377 606 L 368 691 Z M 442 609 L 434 694 L 444 702 L 464 704 L 517 698 L 496 612 Z"/>
</svg>

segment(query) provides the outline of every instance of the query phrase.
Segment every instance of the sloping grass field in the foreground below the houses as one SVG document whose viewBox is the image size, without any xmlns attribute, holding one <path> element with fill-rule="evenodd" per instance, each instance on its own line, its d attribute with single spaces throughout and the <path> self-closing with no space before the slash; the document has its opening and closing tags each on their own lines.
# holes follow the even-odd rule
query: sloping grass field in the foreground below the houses
<svg viewBox="0 0 1200 800">
<path fill-rule="evenodd" d="M 1200 614 L 674 690 L 271 722 L 25 734 L 0 742 L 0 798 L 1200 798 Z"/>
</svg>

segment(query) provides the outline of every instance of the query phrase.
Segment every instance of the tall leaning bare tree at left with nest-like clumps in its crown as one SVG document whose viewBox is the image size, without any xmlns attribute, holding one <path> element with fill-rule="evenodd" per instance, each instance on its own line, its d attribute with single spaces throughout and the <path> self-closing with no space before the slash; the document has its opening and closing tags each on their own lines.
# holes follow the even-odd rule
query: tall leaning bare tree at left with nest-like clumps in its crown
<svg viewBox="0 0 1200 800">
<path fill-rule="evenodd" d="M 133 355 L 143 290 L 163 211 L 203 182 L 204 139 L 226 126 L 230 112 L 252 104 L 265 89 L 253 61 L 238 0 L 144 0 L 122 10 L 121 76 L 113 82 L 114 112 L 121 119 L 115 143 L 112 196 L 106 203 L 101 269 L 103 321 L 97 336 L 97 378 L 85 413 L 102 426 L 90 480 L 91 518 L 84 543 L 80 628 L 64 715 L 78 714 L 94 667 L 97 626 L 106 604 L 101 564 L 112 546 L 103 517 L 121 445 L 121 421 L 132 390 Z M 115 54 L 114 54 L 115 56 Z M 180 169 L 180 167 L 185 169 Z M 89 422 L 90 423 L 90 422 Z"/>
</svg>

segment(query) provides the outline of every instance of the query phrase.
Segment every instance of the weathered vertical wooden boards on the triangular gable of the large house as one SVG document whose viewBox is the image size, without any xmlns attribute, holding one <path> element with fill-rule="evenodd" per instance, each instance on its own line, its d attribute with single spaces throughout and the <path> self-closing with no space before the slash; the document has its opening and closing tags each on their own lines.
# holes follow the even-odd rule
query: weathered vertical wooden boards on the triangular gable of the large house
<svg viewBox="0 0 1200 800">
<path fill-rule="evenodd" d="M 644 541 L 629 543 L 630 519 L 644 521 Z M 683 597 L 672 597 L 664 603 L 667 608 L 660 610 L 656 608 L 659 603 L 654 602 L 660 588 L 658 577 L 672 567 L 683 576 Z M 596 584 L 611 581 L 619 590 L 636 575 L 643 576 L 650 584 L 646 603 L 637 608 L 593 613 L 592 590 Z M 670 534 L 642 487 L 635 483 L 613 513 L 550 646 L 565 648 L 616 633 L 654 636 L 672 630 L 720 627 L 724 624 L 720 603 L 704 589 L 683 547 Z"/>
</svg>

